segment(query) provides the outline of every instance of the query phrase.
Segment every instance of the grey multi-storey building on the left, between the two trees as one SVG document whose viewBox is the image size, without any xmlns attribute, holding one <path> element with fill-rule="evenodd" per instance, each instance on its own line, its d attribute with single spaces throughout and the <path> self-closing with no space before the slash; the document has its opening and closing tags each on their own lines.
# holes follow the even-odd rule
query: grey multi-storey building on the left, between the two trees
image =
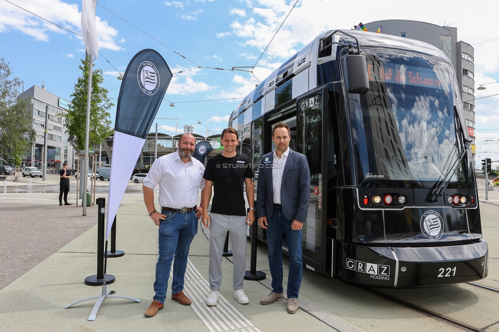
<svg viewBox="0 0 499 332">
<path fill-rule="evenodd" d="M 22 165 L 30 164 L 42 169 L 45 132 L 47 131 L 48 172 L 58 173 L 64 161 L 67 161 L 70 168 L 74 167 L 76 160 L 74 149 L 67 143 L 64 119 L 57 116 L 57 113 L 68 109 L 69 102 L 36 85 L 22 92 L 18 98 L 31 100 L 33 129 L 36 131 L 35 143 L 31 151 L 22 158 Z"/>
</svg>

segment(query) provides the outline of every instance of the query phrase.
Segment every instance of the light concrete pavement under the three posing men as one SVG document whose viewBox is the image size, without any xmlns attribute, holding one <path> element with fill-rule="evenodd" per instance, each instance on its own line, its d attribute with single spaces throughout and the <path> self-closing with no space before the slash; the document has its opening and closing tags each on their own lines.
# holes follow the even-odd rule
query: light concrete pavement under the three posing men
<svg viewBox="0 0 499 332">
<path fill-rule="evenodd" d="M 54 180 L 50 181 L 52 181 L 52 185 L 55 184 Z M 47 185 L 51 183 L 48 182 Z M 95 321 L 87 321 L 87 318 L 96 303 L 96 299 L 64 309 L 67 304 L 72 302 L 101 295 L 102 287 L 84 284 L 86 277 L 97 272 L 96 218 L 94 226 L 0 291 L 0 326 L 2 326 L 2 330 L 232 331 L 237 329 L 281 331 L 283 330 L 283 322 L 285 322 L 286 327 L 300 326 L 300 330 L 330 330 L 331 324 L 337 325 L 339 330 L 355 330 L 338 317 L 329 317 L 330 326 L 328 326 L 324 321 L 304 310 L 289 315 L 286 312 L 287 301 L 267 306 L 261 305 L 260 299 L 270 293 L 269 279 L 261 282 L 245 280 L 244 290 L 250 298 L 250 304 L 237 303 L 233 297 L 232 263 L 228 259 L 222 259 L 223 279 L 220 295 L 223 298 L 219 300 L 219 305 L 216 307 L 207 307 L 204 301 L 209 289 L 207 288 L 209 241 L 201 227 L 199 227 L 198 234 L 191 245 L 189 259 L 192 265 L 189 266 L 186 274 L 185 291 L 191 297 L 193 304 L 183 306 L 177 301 L 169 299 L 171 294 L 169 288 L 165 309 L 158 312 L 155 317 L 146 318 L 144 312 L 154 295 L 152 285 L 157 261 L 157 226 L 147 217 L 142 193 L 135 191 L 135 186 L 140 188 L 141 185 L 132 183 L 129 185 L 132 190 L 127 189 L 118 211 L 116 248 L 125 251 L 125 255 L 107 260 L 107 273 L 116 277 L 116 281 L 108 285 L 107 290 L 115 290 L 115 295 L 138 298 L 141 302 L 137 303 L 122 298 L 106 298 Z M 72 197 L 70 202 L 74 203 L 74 194 Z M 102 197 L 102 195 L 98 195 L 98 197 Z M 43 206 L 52 206 L 48 205 L 47 202 L 50 204 L 56 202 L 54 194 L 36 192 L 0 194 L 0 204 L 2 205 L 4 203 L 19 203 L 28 199 L 33 202 L 31 208 L 33 211 L 37 211 L 36 214 L 43 214 Z M 33 209 L 33 206 L 36 208 Z M 65 211 L 70 209 L 77 211 L 77 214 L 81 212 L 81 206 L 78 208 L 62 206 L 60 208 L 67 208 Z M 88 207 L 87 210 L 94 211 L 97 210 L 97 207 Z M 34 222 L 36 222 L 36 218 L 31 217 L 29 223 Z M 53 236 L 57 236 L 57 233 Z M 40 241 L 37 240 L 37 243 Z M 266 248 L 261 247 L 259 248 L 258 262 L 261 266 L 257 266 L 257 269 L 265 269 L 264 272 L 269 274 L 264 250 Z M 249 248 L 250 242 L 248 241 L 247 262 L 250 262 Z M 287 279 L 287 275 L 284 276 L 284 279 Z M 307 305 L 306 299 L 300 302 L 300 305 Z"/>
</svg>

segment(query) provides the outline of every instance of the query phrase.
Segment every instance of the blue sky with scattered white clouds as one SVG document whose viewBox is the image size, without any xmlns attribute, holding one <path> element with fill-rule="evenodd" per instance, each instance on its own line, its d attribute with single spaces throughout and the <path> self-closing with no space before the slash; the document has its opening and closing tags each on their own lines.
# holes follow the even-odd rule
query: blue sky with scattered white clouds
<svg viewBox="0 0 499 332">
<path fill-rule="evenodd" d="M 481 159 L 497 160 L 495 169 L 499 32 L 490 27 L 498 10 L 496 0 L 484 0 L 480 7 L 438 0 L 411 6 L 394 0 L 99 0 L 100 54 L 94 68 L 102 70 L 102 86 L 115 103 L 114 121 L 119 73 L 139 51 L 156 50 L 174 75 L 151 131 L 157 123 L 158 131 L 175 134 L 188 124 L 205 136 L 227 127 L 242 98 L 322 32 L 384 19 L 456 27 L 458 39 L 474 48 L 475 161 L 481 167 Z M 0 58 L 10 63 L 12 77 L 24 81 L 25 89 L 43 84 L 71 100 L 85 57 L 80 13 L 81 0 L 0 0 Z M 477 90 L 480 84 L 487 89 Z"/>
</svg>

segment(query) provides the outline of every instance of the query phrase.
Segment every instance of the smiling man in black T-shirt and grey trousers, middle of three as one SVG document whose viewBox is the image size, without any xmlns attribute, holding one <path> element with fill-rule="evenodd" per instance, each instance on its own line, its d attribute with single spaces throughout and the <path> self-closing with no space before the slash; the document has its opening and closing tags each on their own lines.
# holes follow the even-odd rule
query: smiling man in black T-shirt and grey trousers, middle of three
<svg viewBox="0 0 499 332">
<path fill-rule="evenodd" d="M 234 258 L 234 297 L 241 304 L 250 303 L 242 289 L 246 273 L 246 231 L 247 225 L 255 221 L 253 170 L 250 159 L 236 152 L 239 136 L 234 128 L 226 128 L 220 137 L 223 152 L 208 159 L 205 175 L 205 191 L 202 195 L 202 223 L 210 227 L 210 290 L 207 305 L 217 305 L 218 291 L 222 281 L 222 253 L 227 231 L 230 232 Z M 215 183 L 211 213 L 208 204 L 211 187 Z M 246 214 L 243 188 L 246 184 L 246 198 L 250 211 Z M 208 226 L 210 225 L 210 226 Z"/>
</svg>

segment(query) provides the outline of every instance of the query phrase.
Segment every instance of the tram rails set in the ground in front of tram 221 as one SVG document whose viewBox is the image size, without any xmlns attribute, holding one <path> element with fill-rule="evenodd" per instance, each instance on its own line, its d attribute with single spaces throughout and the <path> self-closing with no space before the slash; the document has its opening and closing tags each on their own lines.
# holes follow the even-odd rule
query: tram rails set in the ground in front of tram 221
<svg viewBox="0 0 499 332">
<path fill-rule="evenodd" d="M 483 286 L 481 284 L 475 284 L 474 282 L 467 282 L 468 284 L 470 284 L 471 286 L 475 286 L 475 287 L 480 287 L 480 288 L 483 288 L 483 289 L 489 289 L 489 290 L 492 290 L 492 291 L 495 291 L 495 292 L 499 292 L 499 290 L 497 289 L 493 289 L 491 287 L 487 287 L 487 286 Z M 386 294 L 386 293 L 383 293 L 381 291 L 378 291 L 376 289 L 373 289 L 373 288 L 369 288 L 369 287 L 366 287 L 366 286 L 361 286 L 361 285 L 356 285 L 356 287 L 358 287 L 359 289 L 362 289 L 366 292 L 369 292 L 371 294 L 374 294 L 374 295 L 377 295 L 385 300 L 388 300 L 388 301 L 391 301 L 393 303 L 396 303 L 396 304 L 399 304 L 399 305 L 402 305 L 404 307 L 406 307 L 407 309 L 411 309 L 413 311 L 416 311 L 416 312 L 419 312 L 423 315 L 426 315 L 428 317 L 432 317 L 438 321 L 441 321 L 441 322 L 444 322 L 446 324 L 449 324 L 451 326 L 455 326 L 463 331 L 474 331 L 474 332 L 486 332 L 485 329 L 483 328 L 480 328 L 480 327 L 476 327 L 476 326 L 471 326 L 469 324 L 466 324 L 462 321 L 459 321 L 459 320 L 456 320 L 456 319 L 453 319 L 453 318 L 450 318 L 450 317 L 447 317 L 447 316 L 444 316 L 442 314 L 439 314 L 433 310 L 429 310 L 425 307 L 422 307 L 420 305 L 417 305 L 417 304 L 414 304 L 414 303 L 411 303 L 409 301 L 405 301 L 405 300 L 402 300 L 400 298 L 397 298 L 395 296 L 392 296 L 392 295 L 389 295 L 389 294 Z"/>
</svg>

